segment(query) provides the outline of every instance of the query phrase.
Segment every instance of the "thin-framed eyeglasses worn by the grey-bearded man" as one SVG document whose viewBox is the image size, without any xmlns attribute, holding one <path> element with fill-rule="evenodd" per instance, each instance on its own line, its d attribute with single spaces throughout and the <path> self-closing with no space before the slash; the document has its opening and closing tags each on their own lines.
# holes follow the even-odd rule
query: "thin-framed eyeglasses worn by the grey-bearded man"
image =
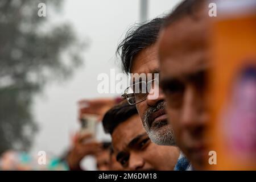
<svg viewBox="0 0 256 182">
<path fill-rule="evenodd" d="M 156 86 L 158 88 L 159 79 L 155 78 L 148 82 L 141 81 L 129 86 L 125 89 L 122 98 L 127 100 L 130 105 L 138 104 L 147 99 L 148 94 L 152 90 L 152 85 L 154 85 L 154 89 L 156 89 Z"/>
</svg>

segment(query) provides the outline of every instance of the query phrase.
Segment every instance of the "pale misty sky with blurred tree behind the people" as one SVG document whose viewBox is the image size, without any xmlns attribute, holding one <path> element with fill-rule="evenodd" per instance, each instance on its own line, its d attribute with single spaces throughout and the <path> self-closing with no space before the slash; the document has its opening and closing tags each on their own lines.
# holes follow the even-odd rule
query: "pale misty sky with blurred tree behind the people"
<svg viewBox="0 0 256 182">
<path fill-rule="evenodd" d="M 147 20 L 170 13 L 180 1 L 148 0 Z M 37 14 L 40 2 L 46 3 L 46 17 Z M 16 146 L 32 155 L 42 150 L 61 155 L 68 150 L 80 127 L 77 101 L 116 96 L 97 92 L 97 76 L 110 75 L 113 68 L 121 72 L 115 51 L 126 31 L 140 23 L 140 2 L 0 2 L 0 137 L 7 144 L 2 151 Z M 110 139 L 98 131 L 98 139 Z M 92 160 L 84 163 L 94 169 Z"/>
</svg>

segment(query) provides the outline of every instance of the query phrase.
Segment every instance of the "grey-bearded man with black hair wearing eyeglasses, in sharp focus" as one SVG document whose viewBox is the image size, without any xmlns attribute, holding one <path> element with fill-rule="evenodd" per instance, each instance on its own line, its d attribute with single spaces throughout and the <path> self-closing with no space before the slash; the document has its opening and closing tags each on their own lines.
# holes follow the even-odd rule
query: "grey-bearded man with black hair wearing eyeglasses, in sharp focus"
<svg viewBox="0 0 256 182">
<path fill-rule="evenodd" d="M 156 40 L 164 18 L 156 18 L 130 30 L 117 52 L 125 73 L 133 73 L 123 98 L 136 105 L 144 129 L 152 142 L 175 145 L 172 127 L 164 111 L 164 96 L 158 87 L 159 60 Z M 151 75 L 150 75 L 151 74 Z M 142 75 L 142 76 L 141 76 Z"/>
</svg>

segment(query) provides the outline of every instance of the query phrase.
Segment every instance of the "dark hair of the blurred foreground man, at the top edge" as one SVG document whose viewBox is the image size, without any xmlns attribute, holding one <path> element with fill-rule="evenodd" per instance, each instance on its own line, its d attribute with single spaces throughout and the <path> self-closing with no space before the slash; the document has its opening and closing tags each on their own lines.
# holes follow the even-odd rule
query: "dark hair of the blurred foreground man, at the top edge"
<svg viewBox="0 0 256 182">
<path fill-rule="evenodd" d="M 169 26 L 171 23 L 176 22 L 186 15 L 196 18 L 195 13 L 205 2 L 205 0 L 185 0 L 181 2 L 175 7 L 174 11 L 167 16 L 166 21 L 163 23 L 163 27 Z"/>
</svg>

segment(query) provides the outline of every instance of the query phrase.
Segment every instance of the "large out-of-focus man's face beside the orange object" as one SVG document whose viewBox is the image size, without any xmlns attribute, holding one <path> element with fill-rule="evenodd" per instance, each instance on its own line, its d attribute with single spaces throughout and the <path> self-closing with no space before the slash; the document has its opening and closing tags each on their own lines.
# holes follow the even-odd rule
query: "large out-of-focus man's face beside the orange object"
<svg viewBox="0 0 256 182">
<path fill-rule="evenodd" d="M 207 26 L 199 18 L 184 16 L 160 33 L 160 86 L 177 146 L 200 169 L 208 162 L 208 104 L 205 77 L 208 63 Z"/>
</svg>

